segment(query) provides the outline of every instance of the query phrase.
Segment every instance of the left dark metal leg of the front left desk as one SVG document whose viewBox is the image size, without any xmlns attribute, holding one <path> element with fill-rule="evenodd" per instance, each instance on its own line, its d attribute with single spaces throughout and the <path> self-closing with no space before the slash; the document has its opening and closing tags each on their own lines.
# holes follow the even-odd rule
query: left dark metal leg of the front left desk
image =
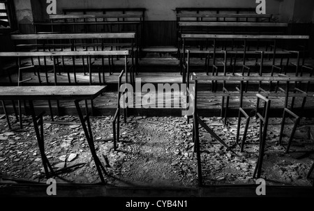
<svg viewBox="0 0 314 211">
<path fill-rule="evenodd" d="M 46 178 L 50 178 L 54 174 L 54 170 L 50 165 L 50 162 L 45 155 L 45 143 L 44 143 L 44 133 L 43 133 L 43 115 L 45 112 L 41 113 L 39 116 L 36 116 L 35 109 L 33 107 L 33 101 L 29 101 L 29 107 L 31 110 L 31 118 L 33 119 L 33 127 L 36 132 L 36 139 L 38 141 L 38 147 L 40 150 L 41 159 L 43 162 L 43 167 L 45 170 Z"/>
</svg>

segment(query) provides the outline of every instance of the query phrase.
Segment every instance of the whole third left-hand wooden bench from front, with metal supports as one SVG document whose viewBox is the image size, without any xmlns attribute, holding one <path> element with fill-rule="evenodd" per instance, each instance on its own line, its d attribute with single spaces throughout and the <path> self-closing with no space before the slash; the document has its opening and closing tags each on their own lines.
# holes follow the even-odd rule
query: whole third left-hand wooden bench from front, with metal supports
<svg viewBox="0 0 314 211">
<path fill-rule="evenodd" d="M 95 50 L 104 51 L 109 47 L 110 50 L 130 49 L 130 58 L 132 65 L 137 68 L 138 48 L 136 33 L 52 33 L 52 34 L 28 34 L 28 35 L 12 35 L 11 39 L 15 42 L 16 51 L 20 49 L 35 49 L 39 51 L 56 51 L 70 47 L 72 51 L 77 47 L 84 47 L 86 50 L 92 47 Z M 94 42 L 96 40 L 96 42 Z M 25 41 L 33 41 L 35 44 L 23 43 Z M 80 41 L 80 42 L 79 42 Z M 56 43 L 60 42 L 60 43 Z M 63 43 L 65 42 L 65 43 Z M 21 44 L 22 43 L 22 44 Z M 111 63 L 113 65 L 113 56 L 111 56 Z M 84 62 L 84 60 L 83 60 Z M 110 65 L 110 68 L 112 66 Z M 111 71 L 111 70 L 110 70 Z M 84 69 L 85 72 L 85 69 Z"/>
</svg>

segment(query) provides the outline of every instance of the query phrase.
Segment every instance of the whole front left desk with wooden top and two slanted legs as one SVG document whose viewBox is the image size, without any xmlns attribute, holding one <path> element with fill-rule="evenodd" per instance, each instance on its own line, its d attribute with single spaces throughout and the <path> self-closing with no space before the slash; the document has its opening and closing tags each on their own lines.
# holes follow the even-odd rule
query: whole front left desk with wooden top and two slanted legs
<svg viewBox="0 0 314 211">
<path fill-rule="evenodd" d="M 84 134 L 89 143 L 91 155 L 94 158 L 95 166 L 100 176 L 101 182 L 105 183 L 103 173 L 106 174 L 103 164 L 96 154 L 93 134 L 91 132 L 91 123 L 89 114 L 83 116 L 80 102 L 82 100 L 94 100 L 105 91 L 106 86 L 3 86 L 0 88 L 0 100 L 26 100 L 29 102 L 33 126 L 36 132 L 36 138 L 42 157 L 45 175 L 50 178 L 55 175 L 50 162 L 45 155 L 45 143 L 43 132 L 43 115 L 45 112 L 36 116 L 33 106 L 34 100 L 73 100 L 77 109 L 77 115 L 80 118 Z M 87 108 L 88 110 L 88 108 Z M 103 171 L 103 172 L 102 172 Z"/>
</svg>

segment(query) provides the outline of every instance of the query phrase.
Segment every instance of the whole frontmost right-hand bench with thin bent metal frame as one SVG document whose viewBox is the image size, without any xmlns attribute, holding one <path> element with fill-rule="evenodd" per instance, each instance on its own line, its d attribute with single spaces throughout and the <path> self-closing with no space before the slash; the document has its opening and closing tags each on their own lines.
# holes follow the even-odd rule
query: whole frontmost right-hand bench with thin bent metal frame
<svg viewBox="0 0 314 211">
<path fill-rule="evenodd" d="M 199 180 L 199 185 L 202 186 L 203 185 L 203 181 L 202 181 L 202 162 L 201 162 L 201 157 L 200 157 L 200 138 L 199 138 L 199 125 L 201 125 L 201 127 L 204 127 L 204 129 L 209 132 L 209 134 L 211 134 L 211 136 L 216 139 L 216 141 L 219 141 L 221 144 L 223 144 L 223 146 L 225 146 L 227 148 L 227 150 L 230 150 L 230 152 L 234 153 L 234 151 L 232 150 L 232 148 L 230 148 L 230 146 L 227 146 L 227 144 L 220 139 L 219 136 L 217 136 L 215 134 L 215 132 L 213 130 L 211 130 L 211 128 L 204 123 L 204 121 L 202 121 L 200 119 L 200 117 L 197 114 L 197 87 L 198 87 L 198 82 L 199 81 L 239 81 L 241 84 L 240 88 L 238 89 L 238 92 L 236 93 L 228 93 L 223 91 L 223 93 L 219 92 L 219 93 L 208 93 L 207 96 L 211 97 L 211 96 L 228 96 L 228 97 L 240 97 L 242 99 L 242 97 L 244 96 L 252 96 L 255 95 L 257 97 L 257 106 L 256 106 L 256 116 L 257 118 L 260 118 L 260 125 L 262 125 L 260 127 L 260 134 L 262 134 L 261 140 L 260 140 L 260 151 L 259 151 L 259 157 L 257 160 L 257 165 L 255 166 L 255 171 L 253 174 L 253 178 L 260 178 L 261 172 L 262 172 L 262 161 L 263 161 L 263 157 L 264 157 L 264 148 L 265 148 L 265 142 L 266 142 L 266 136 L 267 136 L 267 125 L 268 125 L 268 118 L 269 118 L 269 109 L 270 109 L 270 102 L 271 100 L 269 100 L 269 97 L 285 97 L 285 99 L 287 100 L 287 97 L 314 97 L 313 93 L 289 93 L 289 84 L 290 82 L 295 82 L 295 83 L 313 83 L 314 82 L 314 78 L 313 77 L 287 77 L 284 75 L 278 75 L 278 77 L 246 77 L 246 76 L 202 76 L 202 75 L 197 75 L 195 73 L 193 73 L 191 80 L 194 81 L 194 88 L 187 88 L 187 93 L 188 96 L 189 95 L 193 95 L 193 97 L 187 97 L 190 99 L 193 99 L 193 102 L 190 102 L 190 107 L 193 108 L 193 134 L 195 134 L 195 136 L 193 136 L 193 141 L 195 143 L 195 152 L 197 153 L 197 170 L 198 170 L 198 180 Z M 269 81 L 278 81 L 280 83 L 285 83 L 287 84 L 287 88 L 286 91 L 283 93 L 269 93 L 269 92 L 261 92 L 258 91 L 257 93 L 246 93 L 244 91 L 244 82 L 245 81 L 258 81 L 258 82 L 269 82 Z M 264 104 L 264 112 L 263 114 L 260 114 L 260 108 L 259 108 L 259 100 L 262 100 L 265 102 Z M 246 116 L 246 118 L 250 118 L 248 116 L 248 114 L 245 113 L 244 109 L 241 108 L 241 101 L 240 101 L 240 105 L 239 105 L 239 121 L 241 119 L 241 112 L 243 112 L 243 114 Z M 284 110 L 284 115 L 285 112 L 288 112 L 289 114 L 291 114 L 294 117 L 299 118 L 299 116 L 295 115 L 292 111 L 289 111 L 285 105 Z M 237 141 L 239 140 L 239 121 L 238 121 L 238 131 L 237 131 Z M 241 122 L 240 122 L 241 123 Z M 246 122 L 246 130 L 248 126 L 248 121 Z M 295 126 L 294 126 L 295 127 Z M 282 127 L 283 130 L 283 127 Z M 246 134 L 246 132 L 244 132 L 244 134 Z M 293 136 L 293 135 L 292 135 Z M 241 147 L 243 149 L 243 146 Z M 238 156 L 237 153 L 234 153 L 235 156 Z"/>
</svg>

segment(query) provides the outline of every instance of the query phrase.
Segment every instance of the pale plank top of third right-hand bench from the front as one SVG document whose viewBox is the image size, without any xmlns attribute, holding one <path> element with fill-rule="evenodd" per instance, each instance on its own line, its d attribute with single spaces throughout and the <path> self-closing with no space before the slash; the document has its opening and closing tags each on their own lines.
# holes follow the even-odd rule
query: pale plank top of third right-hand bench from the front
<svg viewBox="0 0 314 211">
<path fill-rule="evenodd" d="M 287 27 L 288 24 L 273 22 L 179 22 L 179 26 Z"/>
</svg>

